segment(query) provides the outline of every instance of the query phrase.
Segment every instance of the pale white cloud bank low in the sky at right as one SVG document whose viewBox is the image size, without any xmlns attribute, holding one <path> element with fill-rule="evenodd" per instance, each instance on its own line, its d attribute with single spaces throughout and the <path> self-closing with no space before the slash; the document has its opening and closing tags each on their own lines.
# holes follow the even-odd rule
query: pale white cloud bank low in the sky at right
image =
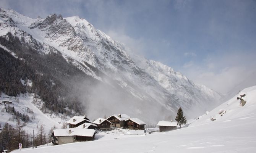
<svg viewBox="0 0 256 153">
<path fill-rule="evenodd" d="M 244 89 L 256 85 L 255 53 L 233 52 L 222 56 L 209 56 L 202 63 L 186 63 L 183 72 L 193 82 L 204 84 L 220 92 Z M 189 68 L 189 69 L 187 69 Z"/>
</svg>

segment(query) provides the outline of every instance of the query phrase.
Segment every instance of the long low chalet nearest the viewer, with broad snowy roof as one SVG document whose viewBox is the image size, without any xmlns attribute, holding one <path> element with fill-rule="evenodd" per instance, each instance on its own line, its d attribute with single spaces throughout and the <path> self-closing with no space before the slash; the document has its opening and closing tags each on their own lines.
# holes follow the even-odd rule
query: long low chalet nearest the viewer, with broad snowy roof
<svg viewBox="0 0 256 153">
<path fill-rule="evenodd" d="M 52 132 L 52 144 L 62 145 L 66 143 L 92 141 L 94 140 L 96 130 L 94 129 L 55 129 Z"/>
</svg>

